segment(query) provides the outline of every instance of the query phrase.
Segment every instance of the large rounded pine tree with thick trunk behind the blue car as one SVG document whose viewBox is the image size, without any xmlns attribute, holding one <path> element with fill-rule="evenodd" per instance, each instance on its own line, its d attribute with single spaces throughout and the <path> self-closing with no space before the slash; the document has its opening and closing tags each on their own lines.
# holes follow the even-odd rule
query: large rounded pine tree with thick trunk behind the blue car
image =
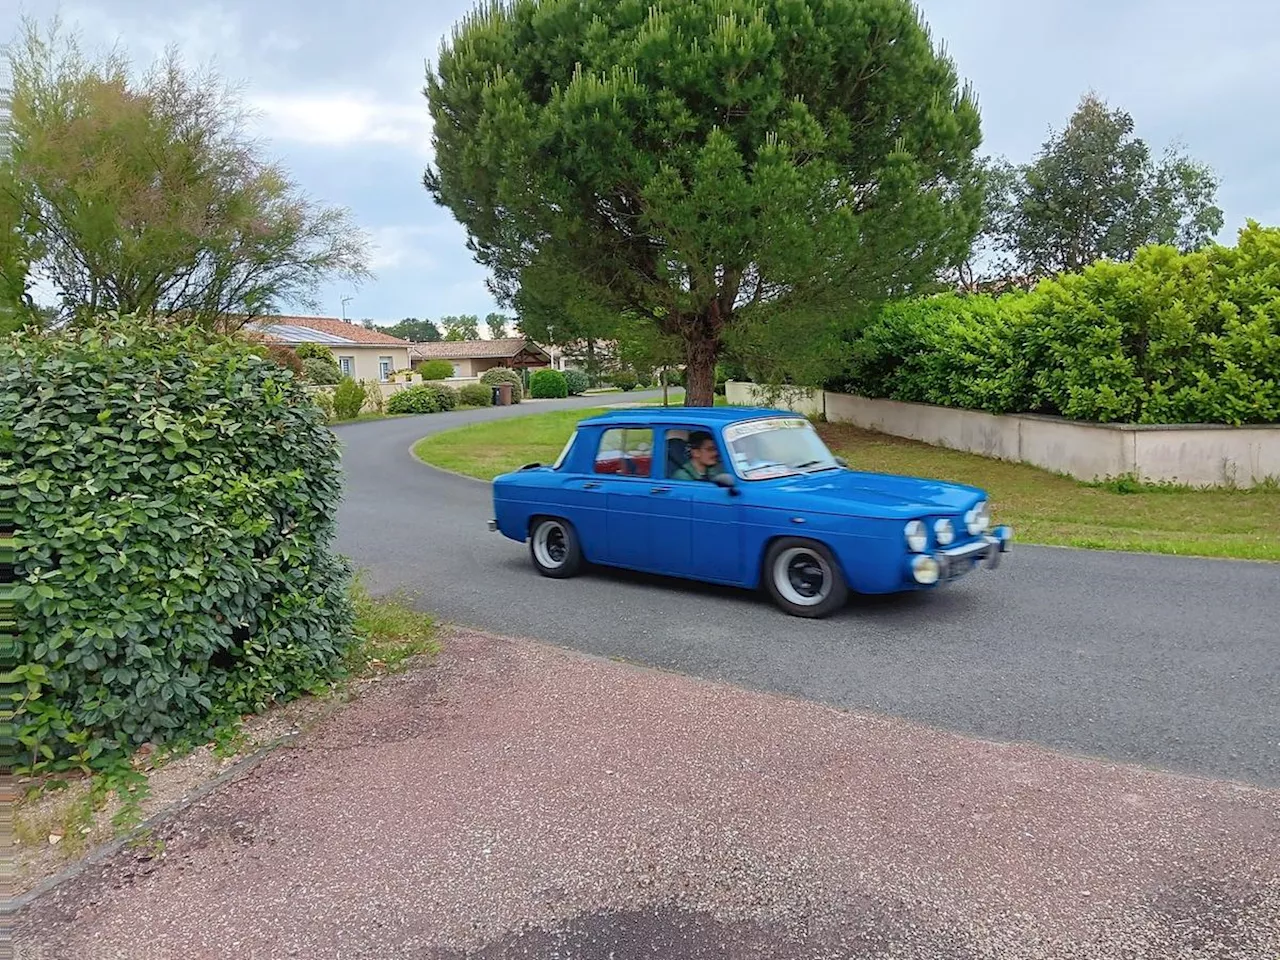
<svg viewBox="0 0 1280 960">
<path fill-rule="evenodd" d="M 751 326 L 808 349 L 978 229 L 978 109 L 910 0 L 484 4 L 426 96 L 424 183 L 499 301 L 646 317 L 692 406 Z"/>
</svg>

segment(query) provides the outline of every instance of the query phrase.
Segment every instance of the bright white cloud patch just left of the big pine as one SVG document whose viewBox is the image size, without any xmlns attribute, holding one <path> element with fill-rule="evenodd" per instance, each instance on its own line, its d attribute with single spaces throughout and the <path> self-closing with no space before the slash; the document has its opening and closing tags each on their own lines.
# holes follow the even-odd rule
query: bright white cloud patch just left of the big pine
<svg viewBox="0 0 1280 960">
<path fill-rule="evenodd" d="M 411 106 L 360 92 L 262 93 L 250 97 L 262 132 L 275 140 L 324 147 L 389 143 L 431 152 L 426 104 Z"/>
</svg>

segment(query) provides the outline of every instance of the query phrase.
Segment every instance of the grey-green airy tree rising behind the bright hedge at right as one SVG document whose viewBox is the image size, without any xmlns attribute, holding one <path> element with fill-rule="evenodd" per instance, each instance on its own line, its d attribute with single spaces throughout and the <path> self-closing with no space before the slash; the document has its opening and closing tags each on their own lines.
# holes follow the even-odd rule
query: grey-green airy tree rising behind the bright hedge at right
<svg viewBox="0 0 1280 960">
<path fill-rule="evenodd" d="M 989 168 L 984 241 L 1000 270 L 1038 279 L 1164 243 L 1198 250 L 1222 229 L 1212 170 L 1176 150 L 1156 160 L 1124 110 L 1085 95 L 1036 159 Z"/>
</svg>

